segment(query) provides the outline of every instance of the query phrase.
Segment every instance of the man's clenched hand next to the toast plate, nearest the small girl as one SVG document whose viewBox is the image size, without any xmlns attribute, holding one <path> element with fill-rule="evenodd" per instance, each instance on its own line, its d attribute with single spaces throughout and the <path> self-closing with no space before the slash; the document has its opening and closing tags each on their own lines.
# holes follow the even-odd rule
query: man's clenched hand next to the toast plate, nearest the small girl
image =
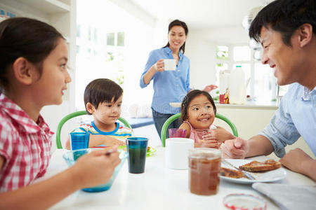
<svg viewBox="0 0 316 210">
<path fill-rule="evenodd" d="M 224 158 L 244 159 L 249 151 L 249 144 L 242 138 L 226 140 L 222 151 Z"/>
</svg>

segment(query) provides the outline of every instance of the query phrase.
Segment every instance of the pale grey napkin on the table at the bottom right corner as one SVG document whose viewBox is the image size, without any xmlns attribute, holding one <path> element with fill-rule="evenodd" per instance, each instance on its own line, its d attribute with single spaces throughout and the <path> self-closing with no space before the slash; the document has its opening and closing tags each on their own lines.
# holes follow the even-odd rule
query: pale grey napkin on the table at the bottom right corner
<svg viewBox="0 0 316 210">
<path fill-rule="evenodd" d="M 252 188 L 269 197 L 280 209 L 315 210 L 316 208 L 316 186 L 254 183 Z"/>
</svg>

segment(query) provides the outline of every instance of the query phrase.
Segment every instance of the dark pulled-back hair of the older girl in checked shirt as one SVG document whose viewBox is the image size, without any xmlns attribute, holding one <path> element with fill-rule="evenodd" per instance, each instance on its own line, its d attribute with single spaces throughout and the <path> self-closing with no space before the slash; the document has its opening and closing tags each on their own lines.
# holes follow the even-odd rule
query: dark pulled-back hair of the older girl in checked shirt
<svg viewBox="0 0 316 210">
<path fill-rule="evenodd" d="M 41 76 L 44 59 L 63 38 L 54 27 L 31 18 L 9 18 L 0 22 L 0 92 L 8 87 L 8 70 L 18 57 L 37 66 Z M 65 39 L 65 38 L 64 38 Z"/>
</svg>

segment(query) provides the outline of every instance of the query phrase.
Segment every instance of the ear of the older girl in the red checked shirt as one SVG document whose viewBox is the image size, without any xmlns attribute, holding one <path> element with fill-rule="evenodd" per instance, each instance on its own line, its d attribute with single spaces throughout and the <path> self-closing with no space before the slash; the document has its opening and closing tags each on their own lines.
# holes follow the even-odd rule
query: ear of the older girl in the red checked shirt
<svg viewBox="0 0 316 210">
<path fill-rule="evenodd" d="M 12 66 L 16 80 L 24 85 L 32 84 L 39 76 L 36 67 L 28 62 L 24 57 L 18 57 L 18 59 L 15 59 Z"/>
</svg>

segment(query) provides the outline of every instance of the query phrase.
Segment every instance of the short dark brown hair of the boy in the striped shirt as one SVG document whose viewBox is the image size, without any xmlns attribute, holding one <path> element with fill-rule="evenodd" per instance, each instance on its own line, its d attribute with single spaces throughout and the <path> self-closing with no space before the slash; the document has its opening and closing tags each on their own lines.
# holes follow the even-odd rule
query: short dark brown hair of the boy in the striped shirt
<svg viewBox="0 0 316 210">
<path fill-rule="evenodd" d="M 84 106 L 91 103 L 96 109 L 100 103 L 111 102 L 114 98 L 114 102 L 121 97 L 123 89 L 114 81 L 107 78 L 98 78 L 88 83 L 86 90 L 84 90 Z M 91 113 L 86 110 L 88 115 Z"/>
</svg>

